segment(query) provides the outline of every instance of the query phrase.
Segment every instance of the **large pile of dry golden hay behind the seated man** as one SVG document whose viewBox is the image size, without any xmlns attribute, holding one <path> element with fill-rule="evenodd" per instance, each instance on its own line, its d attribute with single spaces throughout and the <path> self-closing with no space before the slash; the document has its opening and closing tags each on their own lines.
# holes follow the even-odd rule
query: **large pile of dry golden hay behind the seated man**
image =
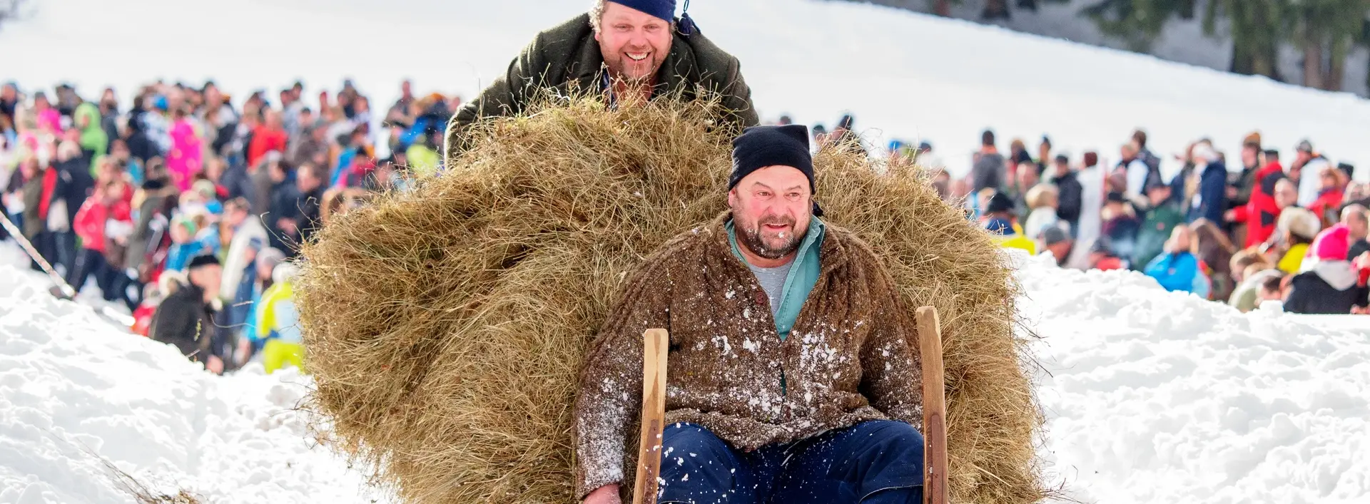
<svg viewBox="0 0 1370 504">
<path fill-rule="evenodd" d="M 570 503 L 577 375 L 625 274 L 726 208 L 736 131 L 710 130 L 710 107 L 500 119 L 447 174 L 323 229 L 296 296 L 341 446 L 411 503 Z M 944 314 L 952 499 L 1037 501 L 1040 415 L 997 249 L 912 167 L 832 148 L 814 164 L 826 219 L 910 307 Z"/>
</svg>

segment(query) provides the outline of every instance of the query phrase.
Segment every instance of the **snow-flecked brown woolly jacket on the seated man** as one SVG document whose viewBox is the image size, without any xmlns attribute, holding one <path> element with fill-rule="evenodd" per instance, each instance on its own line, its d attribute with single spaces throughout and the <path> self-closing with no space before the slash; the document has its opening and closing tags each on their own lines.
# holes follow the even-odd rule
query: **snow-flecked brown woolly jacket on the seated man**
<svg viewBox="0 0 1370 504">
<path fill-rule="evenodd" d="M 666 420 L 703 425 L 736 448 L 873 419 L 922 422 L 912 316 L 866 244 L 827 225 L 818 284 L 781 341 L 766 292 L 732 252 L 729 218 L 673 238 L 629 277 L 581 373 L 578 496 L 633 478 L 652 327 L 670 331 Z"/>
</svg>

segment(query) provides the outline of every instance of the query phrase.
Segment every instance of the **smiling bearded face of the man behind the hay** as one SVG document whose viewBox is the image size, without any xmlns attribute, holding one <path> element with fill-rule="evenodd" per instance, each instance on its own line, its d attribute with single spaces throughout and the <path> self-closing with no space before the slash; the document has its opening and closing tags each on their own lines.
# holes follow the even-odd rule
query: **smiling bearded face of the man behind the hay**
<svg viewBox="0 0 1370 504">
<path fill-rule="evenodd" d="M 656 75 L 671 49 L 671 25 L 632 7 L 607 1 L 595 40 L 610 74 L 627 82 Z"/>
</svg>

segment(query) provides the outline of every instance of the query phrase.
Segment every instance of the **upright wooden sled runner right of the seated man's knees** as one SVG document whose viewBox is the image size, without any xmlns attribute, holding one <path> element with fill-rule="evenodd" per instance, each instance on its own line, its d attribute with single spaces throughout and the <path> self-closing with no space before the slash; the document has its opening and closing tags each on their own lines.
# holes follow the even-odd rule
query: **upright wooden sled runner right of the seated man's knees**
<svg viewBox="0 0 1370 504">
<path fill-rule="evenodd" d="M 937 308 L 918 308 L 923 364 L 923 503 L 947 504 L 947 385 Z"/>
</svg>

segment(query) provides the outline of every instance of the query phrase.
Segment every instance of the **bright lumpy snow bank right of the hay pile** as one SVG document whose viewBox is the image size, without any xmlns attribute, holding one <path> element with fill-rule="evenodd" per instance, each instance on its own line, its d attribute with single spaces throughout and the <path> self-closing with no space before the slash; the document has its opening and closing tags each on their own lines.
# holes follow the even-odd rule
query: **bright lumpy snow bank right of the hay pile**
<svg viewBox="0 0 1370 504">
<path fill-rule="evenodd" d="M 1370 501 L 1370 318 L 1243 315 L 1136 273 L 1021 270 L 1043 451 L 1097 503 Z"/>
</svg>

